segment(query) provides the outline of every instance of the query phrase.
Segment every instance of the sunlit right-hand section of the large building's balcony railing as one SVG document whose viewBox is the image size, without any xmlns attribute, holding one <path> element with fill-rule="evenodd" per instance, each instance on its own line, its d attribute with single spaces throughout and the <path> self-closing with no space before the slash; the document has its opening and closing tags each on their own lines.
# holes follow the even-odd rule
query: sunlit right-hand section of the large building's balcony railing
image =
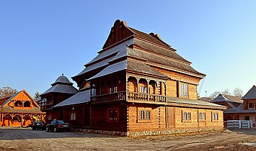
<svg viewBox="0 0 256 151">
<path fill-rule="evenodd" d="M 128 92 L 127 99 L 136 100 L 136 101 L 166 102 L 166 96 L 160 96 L 160 95 L 149 94 L 149 93 Z"/>
</svg>

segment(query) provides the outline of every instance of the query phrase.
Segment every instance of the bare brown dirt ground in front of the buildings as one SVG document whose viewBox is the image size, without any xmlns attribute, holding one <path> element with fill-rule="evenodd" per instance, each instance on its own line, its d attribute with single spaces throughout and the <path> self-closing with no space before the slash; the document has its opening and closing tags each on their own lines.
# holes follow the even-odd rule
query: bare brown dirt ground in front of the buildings
<svg viewBox="0 0 256 151">
<path fill-rule="evenodd" d="M 256 129 L 128 138 L 1 127 L 0 150 L 256 150 Z"/>
</svg>

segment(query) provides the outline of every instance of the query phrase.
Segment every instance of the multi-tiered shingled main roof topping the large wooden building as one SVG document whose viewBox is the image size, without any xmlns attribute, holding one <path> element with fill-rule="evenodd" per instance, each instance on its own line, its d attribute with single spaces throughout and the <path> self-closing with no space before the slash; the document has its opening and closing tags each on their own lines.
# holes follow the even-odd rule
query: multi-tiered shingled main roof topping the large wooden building
<svg viewBox="0 0 256 151">
<path fill-rule="evenodd" d="M 115 33 L 119 32 L 122 32 L 121 37 L 115 37 Z M 198 78 L 205 76 L 205 74 L 192 68 L 190 66 L 191 63 L 175 51 L 159 35 L 140 32 L 137 29 L 128 27 L 126 22 L 117 20 L 111 28 L 110 35 L 107 37 L 103 50 L 100 50 L 98 52 L 99 54 L 85 65 L 86 68 L 84 70 L 72 78 L 76 81 L 77 77 L 87 75 L 87 73 L 89 74 L 99 68 L 102 71 L 92 78 L 115 73 L 120 70 L 134 70 L 141 73 L 159 74 L 158 76 L 160 77 L 167 77 L 167 75 L 156 71 L 154 67 L 189 74 Z M 115 63 L 115 60 L 122 63 Z M 138 65 L 143 64 L 142 67 L 136 69 L 128 68 L 129 66 L 134 66 L 135 61 L 133 60 L 136 60 Z M 143 70 L 144 66 L 149 71 Z"/>
</svg>

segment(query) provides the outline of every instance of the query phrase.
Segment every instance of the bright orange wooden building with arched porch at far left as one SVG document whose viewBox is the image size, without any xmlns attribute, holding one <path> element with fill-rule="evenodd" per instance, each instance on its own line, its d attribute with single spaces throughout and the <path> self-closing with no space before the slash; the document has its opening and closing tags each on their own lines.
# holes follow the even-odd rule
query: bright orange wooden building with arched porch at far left
<svg viewBox="0 0 256 151">
<path fill-rule="evenodd" d="M 45 113 L 25 90 L 0 99 L 0 105 L 1 127 L 26 127 L 35 119 L 45 118 Z"/>
</svg>

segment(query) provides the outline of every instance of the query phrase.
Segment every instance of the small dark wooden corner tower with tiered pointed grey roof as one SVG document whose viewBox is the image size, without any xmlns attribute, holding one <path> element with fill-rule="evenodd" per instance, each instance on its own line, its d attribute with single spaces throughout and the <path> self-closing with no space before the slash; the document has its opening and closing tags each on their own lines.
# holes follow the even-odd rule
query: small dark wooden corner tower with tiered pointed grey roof
<svg viewBox="0 0 256 151">
<path fill-rule="evenodd" d="M 41 111 L 46 112 L 45 122 L 49 123 L 53 119 L 63 119 L 63 110 L 56 111 L 53 106 L 61 103 L 61 101 L 74 96 L 78 90 L 72 86 L 73 83 L 69 81 L 63 74 L 51 84 L 51 87 L 40 95 Z"/>
</svg>

